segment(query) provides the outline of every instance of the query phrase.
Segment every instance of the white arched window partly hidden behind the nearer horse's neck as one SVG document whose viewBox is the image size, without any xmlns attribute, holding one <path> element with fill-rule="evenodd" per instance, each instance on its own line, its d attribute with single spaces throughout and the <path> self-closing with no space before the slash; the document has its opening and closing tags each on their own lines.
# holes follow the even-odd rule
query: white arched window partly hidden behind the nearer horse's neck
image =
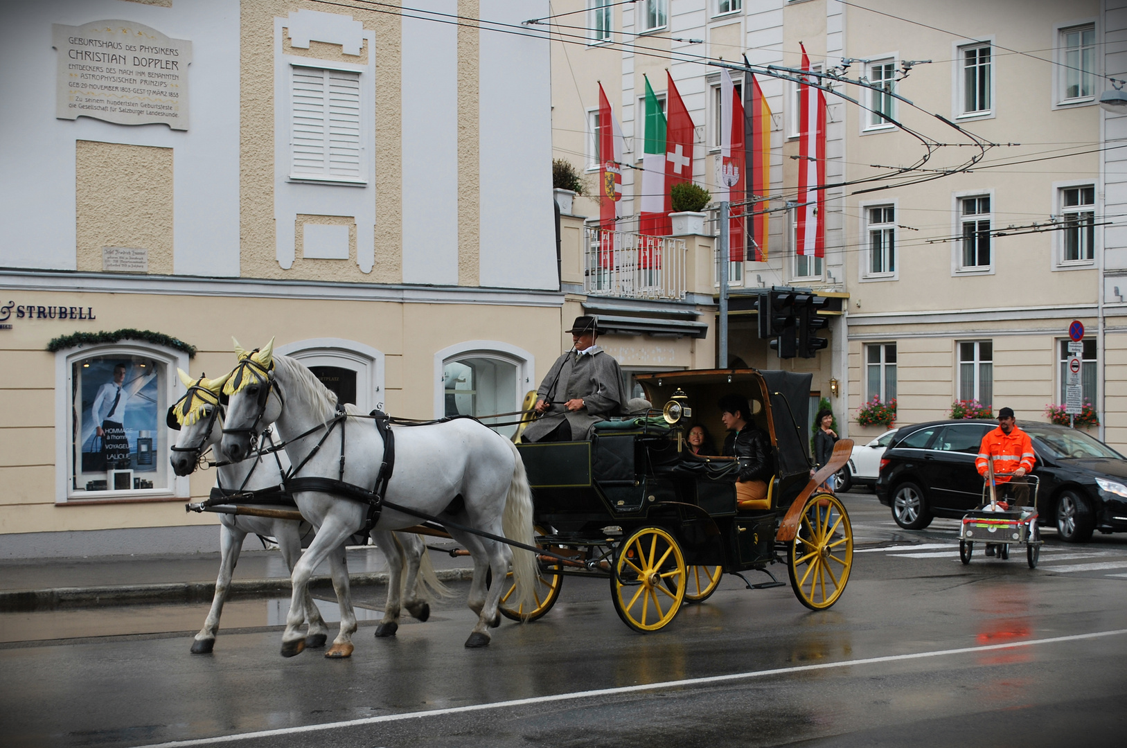
<svg viewBox="0 0 1127 748">
<path fill-rule="evenodd" d="M 275 347 L 312 369 L 340 402 L 369 412 L 383 409 L 383 351 L 353 340 L 312 338 Z"/>
</svg>

